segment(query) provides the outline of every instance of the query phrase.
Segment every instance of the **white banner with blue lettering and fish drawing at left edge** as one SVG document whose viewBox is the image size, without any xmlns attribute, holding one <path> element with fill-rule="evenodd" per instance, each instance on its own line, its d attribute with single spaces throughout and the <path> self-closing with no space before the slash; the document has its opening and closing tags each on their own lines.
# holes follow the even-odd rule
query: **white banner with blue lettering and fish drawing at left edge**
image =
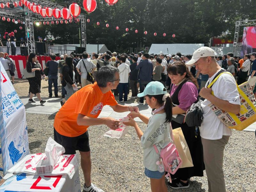
<svg viewBox="0 0 256 192">
<path fill-rule="evenodd" d="M 0 62 L 0 137 L 4 175 L 29 154 L 25 107 Z"/>
</svg>

